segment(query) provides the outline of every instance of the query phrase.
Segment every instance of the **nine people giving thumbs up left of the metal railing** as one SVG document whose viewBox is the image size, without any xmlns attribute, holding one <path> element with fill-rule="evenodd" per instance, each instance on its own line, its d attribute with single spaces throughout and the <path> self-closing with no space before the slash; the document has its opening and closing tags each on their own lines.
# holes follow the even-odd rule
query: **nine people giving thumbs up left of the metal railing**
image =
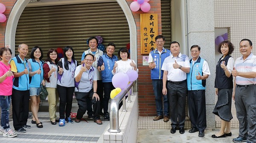
<svg viewBox="0 0 256 143">
<path fill-rule="evenodd" d="M 46 61 L 42 61 L 44 54 L 38 46 L 32 48 L 28 60 L 25 59 L 29 51 L 26 44 L 19 45 L 19 54 L 14 58 L 11 58 L 12 51 L 9 48 L 0 48 L 0 132 L 4 137 L 16 137 L 17 133 L 24 133 L 31 128 L 27 125 L 29 98 L 33 114 L 31 123 L 43 128 L 43 123 L 38 118 L 41 86 L 45 86 L 48 92 L 52 125 L 57 122 L 59 126 L 73 123 L 70 113 L 74 93 L 79 106 L 76 123 L 81 121 L 86 111 L 88 118 L 99 125 L 102 124 L 100 116 L 104 116 L 106 121 L 110 120 L 108 102 L 111 90 L 114 89 L 112 77 L 128 70 L 138 72 L 137 65 L 134 60 L 129 59 L 130 54 L 126 48 L 119 49 L 118 60 L 113 55 L 116 48 L 114 43 L 108 44 L 104 54 L 97 49 L 96 37 L 90 37 L 88 43 L 89 49 L 82 54 L 81 64 L 76 61 L 74 50 L 70 46 L 64 48 L 64 57 L 60 59 L 57 50 L 49 49 Z M 56 116 L 58 100 L 59 119 Z M 11 101 L 15 132 L 9 126 Z"/>
</svg>

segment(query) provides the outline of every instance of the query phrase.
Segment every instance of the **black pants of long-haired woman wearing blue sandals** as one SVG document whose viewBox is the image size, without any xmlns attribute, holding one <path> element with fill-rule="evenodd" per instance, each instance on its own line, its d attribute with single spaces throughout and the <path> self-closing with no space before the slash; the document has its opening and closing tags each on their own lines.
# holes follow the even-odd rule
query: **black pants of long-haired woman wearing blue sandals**
<svg viewBox="0 0 256 143">
<path fill-rule="evenodd" d="M 60 119 L 67 119 L 70 117 L 75 87 L 63 87 L 57 85 L 57 90 L 60 98 Z"/>
</svg>

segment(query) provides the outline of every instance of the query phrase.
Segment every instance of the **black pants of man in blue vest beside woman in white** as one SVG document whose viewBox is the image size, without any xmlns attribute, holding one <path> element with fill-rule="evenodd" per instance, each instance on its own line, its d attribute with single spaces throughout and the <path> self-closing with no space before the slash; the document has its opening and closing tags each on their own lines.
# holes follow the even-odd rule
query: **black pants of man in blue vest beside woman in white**
<svg viewBox="0 0 256 143">
<path fill-rule="evenodd" d="M 104 87 L 103 110 L 105 115 L 108 113 L 108 102 L 109 102 L 111 90 L 115 89 L 115 87 L 113 86 L 112 82 L 103 82 L 103 87 Z"/>
</svg>

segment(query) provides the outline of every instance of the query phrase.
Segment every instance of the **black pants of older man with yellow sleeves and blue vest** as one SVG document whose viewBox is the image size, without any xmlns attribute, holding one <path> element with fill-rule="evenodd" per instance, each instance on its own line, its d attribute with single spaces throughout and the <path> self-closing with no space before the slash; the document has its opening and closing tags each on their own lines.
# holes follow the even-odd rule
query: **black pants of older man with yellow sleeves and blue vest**
<svg viewBox="0 0 256 143">
<path fill-rule="evenodd" d="M 29 116 L 29 90 L 12 89 L 12 119 L 15 130 L 25 126 Z"/>
</svg>

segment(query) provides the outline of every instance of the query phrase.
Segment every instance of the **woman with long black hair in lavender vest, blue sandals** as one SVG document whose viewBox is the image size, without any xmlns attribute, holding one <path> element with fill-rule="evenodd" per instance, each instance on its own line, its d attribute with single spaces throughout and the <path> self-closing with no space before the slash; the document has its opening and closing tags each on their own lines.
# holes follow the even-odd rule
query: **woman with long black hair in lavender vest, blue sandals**
<svg viewBox="0 0 256 143">
<path fill-rule="evenodd" d="M 66 46 L 63 50 L 64 58 L 58 62 L 58 82 L 57 90 L 60 97 L 60 122 L 59 126 L 65 126 L 67 123 L 73 123 L 70 118 L 72 109 L 73 94 L 75 90 L 75 70 L 77 61 L 75 60 L 74 50 Z"/>
</svg>

